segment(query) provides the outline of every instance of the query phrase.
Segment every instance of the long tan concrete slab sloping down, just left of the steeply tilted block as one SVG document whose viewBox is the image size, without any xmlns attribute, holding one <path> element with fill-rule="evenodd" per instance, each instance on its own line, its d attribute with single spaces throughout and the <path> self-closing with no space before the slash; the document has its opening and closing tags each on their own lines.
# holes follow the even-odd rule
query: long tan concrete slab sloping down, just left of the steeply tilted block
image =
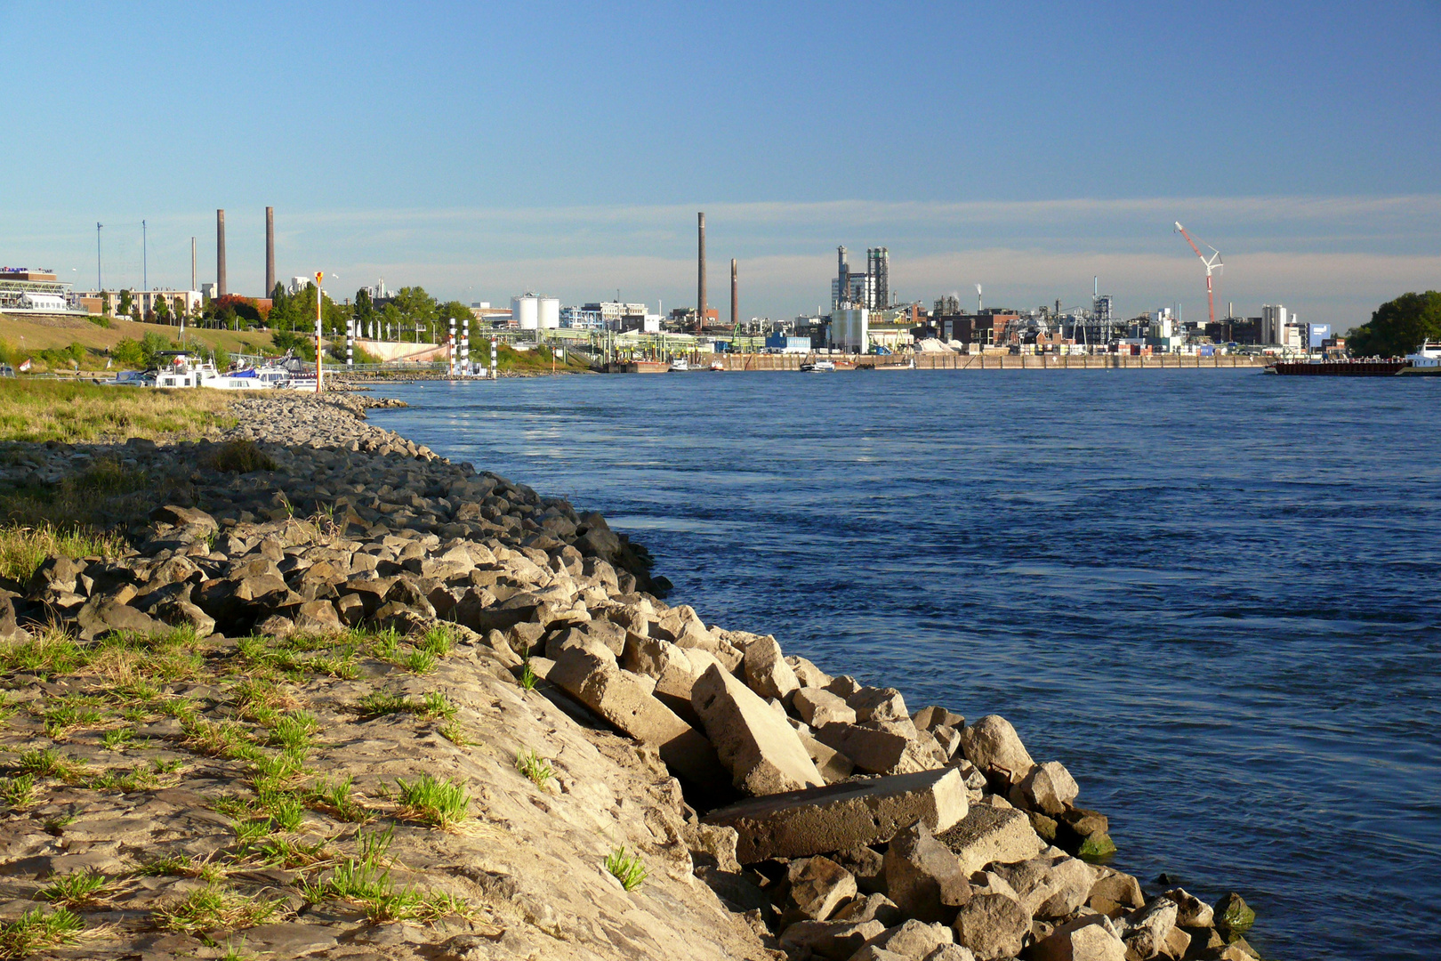
<svg viewBox="0 0 1441 961">
<path fill-rule="evenodd" d="M 729 777 L 710 742 L 651 697 L 633 674 L 623 671 L 610 648 L 597 641 L 589 647 L 565 648 L 548 670 L 546 680 L 635 741 L 657 748 L 677 778 L 713 795 L 728 792 Z"/>
</svg>

